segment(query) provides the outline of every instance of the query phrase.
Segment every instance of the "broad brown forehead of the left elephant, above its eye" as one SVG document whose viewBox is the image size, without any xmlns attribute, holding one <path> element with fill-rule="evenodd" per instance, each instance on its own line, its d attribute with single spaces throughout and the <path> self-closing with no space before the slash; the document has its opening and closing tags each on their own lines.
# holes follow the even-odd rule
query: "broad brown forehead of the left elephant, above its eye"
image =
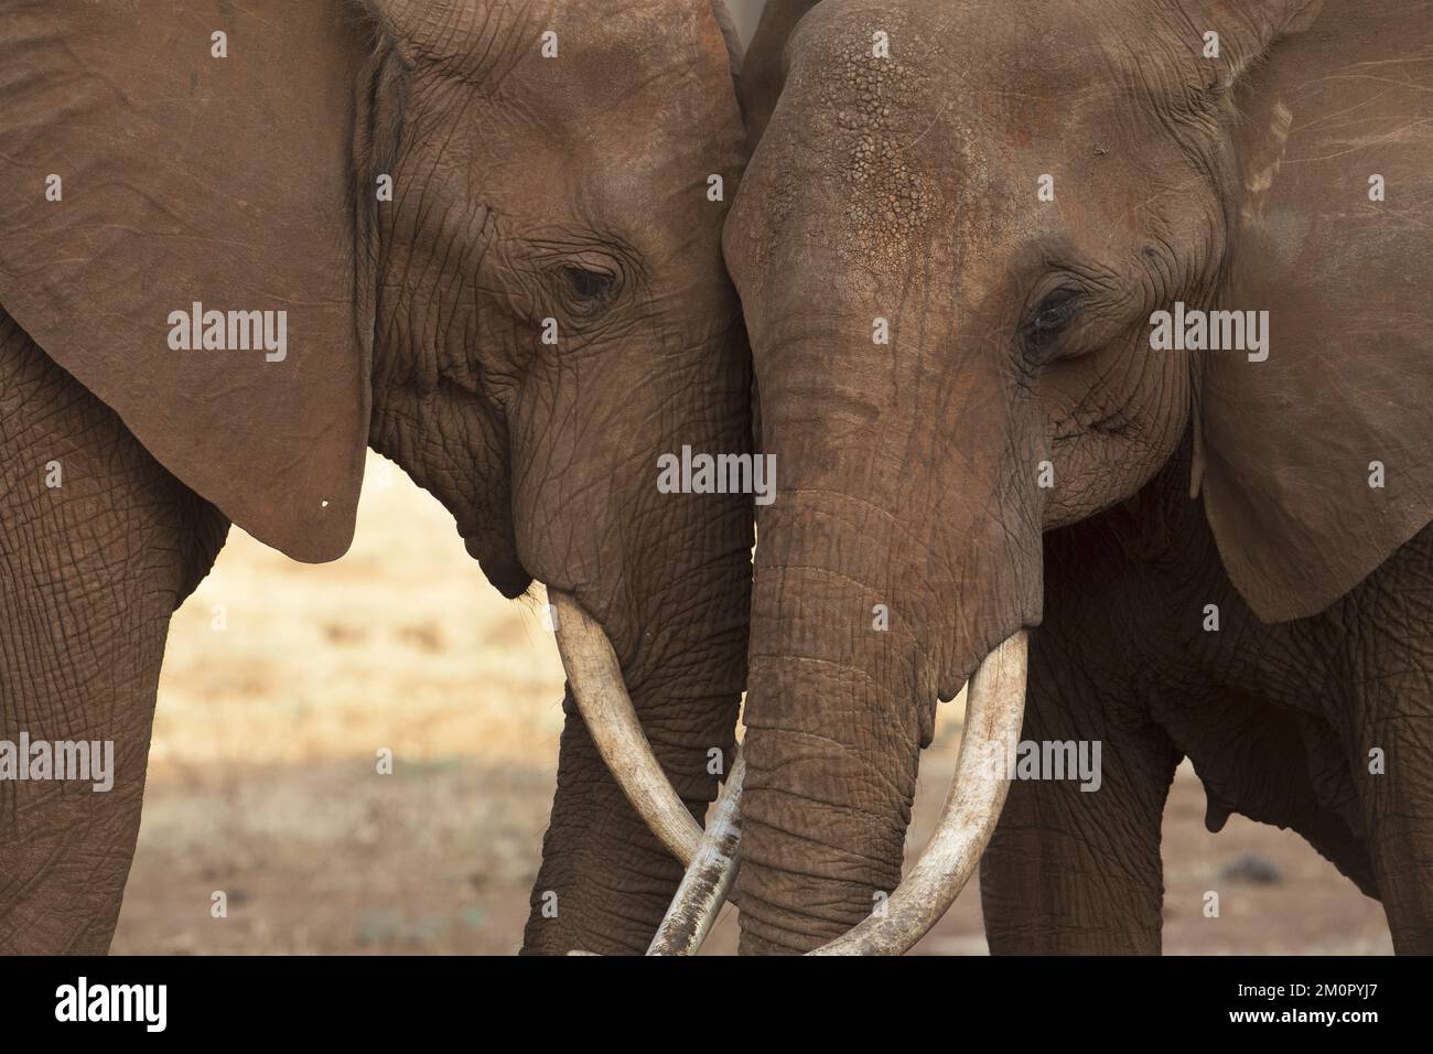
<svg viewBox="0 0 1433 1054">
<path fill-rule="evenodd" d="M 708 181 L 735 179 L 744 129 L 706 0 L 481 6 L 494 22 L 454 22 L 417 63 L 407 128 L 428 192 L 492 201 L 520 229 L 613 229 L 648 254 L 675 252 L 681 229 L 708 238 L 708 262 L 724 212 Z"/>
</svg>

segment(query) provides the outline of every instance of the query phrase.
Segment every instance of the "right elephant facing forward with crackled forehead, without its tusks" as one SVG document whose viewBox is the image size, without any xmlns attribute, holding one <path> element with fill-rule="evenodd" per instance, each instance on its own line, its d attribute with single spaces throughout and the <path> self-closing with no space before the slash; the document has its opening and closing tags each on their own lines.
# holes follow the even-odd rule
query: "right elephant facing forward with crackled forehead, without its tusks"
<svg viewBox="0 0 1433 1054">
<path fill-rule="evenodd" d="M 1036 625 L 1025 739 L 1101 740 L 1103 786 L 1012 786 L 992 949 L 1158 951 L 1188 756 L 1211 825 L 1293 826 L 1433 951 L 1433 7 L 1366 7 L 768 6 L 744 951 L 894 889 L 937 695 Z M 1270 311 L 1268 360 L 1152 351 L 1175 301 Z"/>
</svg>

